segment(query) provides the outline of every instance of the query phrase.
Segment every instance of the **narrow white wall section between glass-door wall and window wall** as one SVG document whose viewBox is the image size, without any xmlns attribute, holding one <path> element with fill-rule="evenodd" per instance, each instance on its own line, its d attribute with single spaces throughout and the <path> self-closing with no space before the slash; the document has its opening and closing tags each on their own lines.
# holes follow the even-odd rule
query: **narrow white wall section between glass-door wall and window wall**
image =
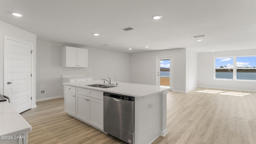
<svg viewBox="0 0 256 144">
<path fill-rule="evenodd" d="M 198 85 L 198 56 L 197 53 L 186 49 L 186 92 L 194 90 Z"/>
</svg>

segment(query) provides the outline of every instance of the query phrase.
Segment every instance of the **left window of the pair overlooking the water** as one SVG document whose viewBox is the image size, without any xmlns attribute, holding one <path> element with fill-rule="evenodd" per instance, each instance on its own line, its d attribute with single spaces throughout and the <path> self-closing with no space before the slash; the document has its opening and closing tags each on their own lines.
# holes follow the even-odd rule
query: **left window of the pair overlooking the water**
<svg viewBox="0 0 256 144">
<path fill-rule="evenodd" d="M 233 79 L 233 58 L 215 58 L 215 78 Z"/>
</svg>

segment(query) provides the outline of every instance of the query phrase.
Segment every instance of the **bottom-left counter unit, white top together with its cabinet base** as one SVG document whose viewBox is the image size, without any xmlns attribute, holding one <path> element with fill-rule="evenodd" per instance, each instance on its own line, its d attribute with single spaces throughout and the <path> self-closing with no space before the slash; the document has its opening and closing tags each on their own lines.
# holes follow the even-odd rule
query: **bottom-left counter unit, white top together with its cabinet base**
<svg viewBox="0 0 256 144">
<path fill-rule="evenodd" d="M 27 144 L 30 124 L 9 104 L 0 102 L 0 144 Z"/>
</svg>

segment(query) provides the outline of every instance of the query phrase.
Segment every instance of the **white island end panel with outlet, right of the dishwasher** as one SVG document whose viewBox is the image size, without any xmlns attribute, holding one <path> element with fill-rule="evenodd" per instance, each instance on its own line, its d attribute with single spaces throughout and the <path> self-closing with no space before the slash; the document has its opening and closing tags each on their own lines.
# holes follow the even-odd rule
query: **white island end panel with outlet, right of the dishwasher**
<svg viewBox="0 0 256 144">
<path fill-rule="evenodd" d="M 160 136 L 161 93 L 134 100 L 134 144 L 150 144 Z M 151 106 L 150 106 L 151 105 Z"/>
</svg>

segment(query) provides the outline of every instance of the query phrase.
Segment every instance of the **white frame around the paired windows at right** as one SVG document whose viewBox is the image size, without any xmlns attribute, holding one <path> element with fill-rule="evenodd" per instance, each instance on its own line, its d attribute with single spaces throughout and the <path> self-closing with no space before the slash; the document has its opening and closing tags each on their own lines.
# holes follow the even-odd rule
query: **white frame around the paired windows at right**
<svg viewBox="0 0 256 144">
<path fill-rule="evenodd" d="M 224 56 L 224 57 L 214 57 L 214 77 L 213 79 L 214 80 L 236 80 L 236 81 L 256 81 L 256 80 L 237 80 L 236 77 L 237 77 L 237 69 L 256 69 L 256 68 L 237 68 L 236 67 L 236 60 L 237 60 L 237 57 L 256 57 L 256 56 Z M 225 78 L 216 78 L 216 58 L 233 58 L 233 68 L 230 68 L 230 69 L 233 69 L 233 79 L 225 79 Z M 218 69 L 227 69 L 227 68 L 218 68 Z"/>
</svg>

